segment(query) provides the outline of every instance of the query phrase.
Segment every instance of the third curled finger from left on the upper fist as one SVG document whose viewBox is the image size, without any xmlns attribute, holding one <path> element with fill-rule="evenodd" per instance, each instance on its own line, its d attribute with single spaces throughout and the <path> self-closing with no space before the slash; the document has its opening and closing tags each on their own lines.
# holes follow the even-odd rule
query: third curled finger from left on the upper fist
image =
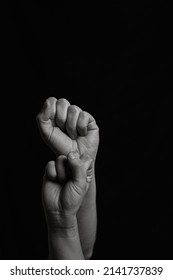
<svg viewBox="0 0 173 280">
<path fill-rule="evenodd" d="M 81 112 L 81 109 L 75 105 L 71 105 L 68 107 L 67 111 L 67 120 L 66 120 L 66 130 L 68 135 L 71 139 L 77 138 L 77 121 L 79 117 L 79 113 Z"/>
</svg>

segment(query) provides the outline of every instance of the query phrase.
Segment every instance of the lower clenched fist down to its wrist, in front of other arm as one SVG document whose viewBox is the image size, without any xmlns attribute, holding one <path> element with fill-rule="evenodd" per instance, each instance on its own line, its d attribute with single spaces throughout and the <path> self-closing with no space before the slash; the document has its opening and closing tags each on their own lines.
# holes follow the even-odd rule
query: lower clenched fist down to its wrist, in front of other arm
<svg viewBox="0 0 173 280">
<path fill-rule="evenodd" d="M 90 156 L 69 153 L 47 164 L 42 188 L 42 201 L 48 225 L 71 227 L 92 180 Z"/>
</svg>

